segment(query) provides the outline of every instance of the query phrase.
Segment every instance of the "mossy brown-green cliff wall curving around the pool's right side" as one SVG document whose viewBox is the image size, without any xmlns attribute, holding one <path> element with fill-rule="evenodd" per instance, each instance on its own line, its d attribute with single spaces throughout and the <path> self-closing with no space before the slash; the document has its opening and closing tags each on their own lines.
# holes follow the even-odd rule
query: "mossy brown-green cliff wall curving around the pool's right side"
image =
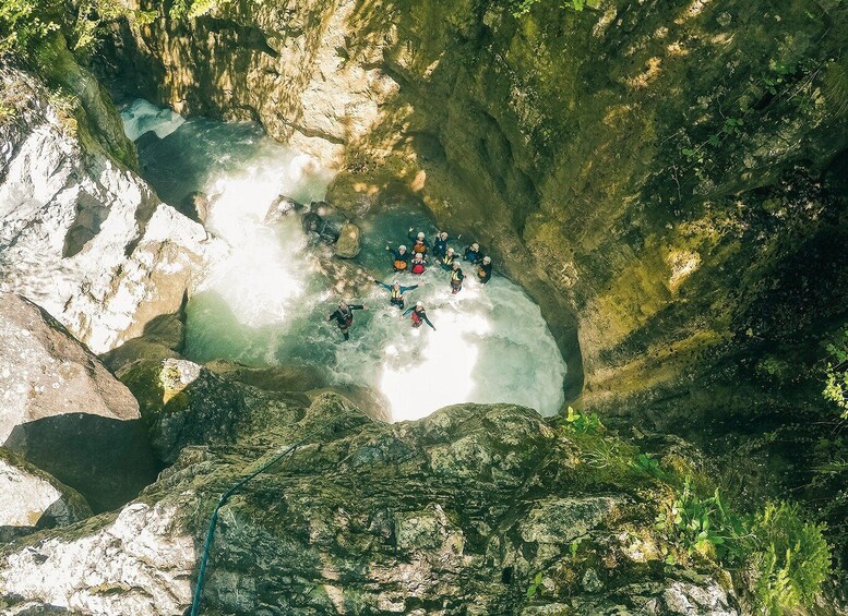
<svg viewBox="0 0 848 616">
<path fill-rule="evenodd" d="M 774 398 L 751 358 L 841 318 L 845 11 L 234 0 L 126 25 L 112 56 L 181 112 L 334 158 L 338 205 L 422 198 L 538 300 L 572 394 L 585 373 L 595 408 L 695 426 Z"/>
</svg>

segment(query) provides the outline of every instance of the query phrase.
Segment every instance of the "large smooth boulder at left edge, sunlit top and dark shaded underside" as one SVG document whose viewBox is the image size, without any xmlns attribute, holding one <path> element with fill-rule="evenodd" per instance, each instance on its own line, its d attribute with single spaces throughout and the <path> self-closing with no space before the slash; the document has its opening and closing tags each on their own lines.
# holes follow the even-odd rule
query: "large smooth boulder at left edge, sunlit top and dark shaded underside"
<svg viewBox="0 0 848 616">
<path fill-rule="evenodd" d="M 156 479 L 135 399 L 33 302 L 0 294 L 0 445 L 83 494 L 122 505 Z"/>
</svg>

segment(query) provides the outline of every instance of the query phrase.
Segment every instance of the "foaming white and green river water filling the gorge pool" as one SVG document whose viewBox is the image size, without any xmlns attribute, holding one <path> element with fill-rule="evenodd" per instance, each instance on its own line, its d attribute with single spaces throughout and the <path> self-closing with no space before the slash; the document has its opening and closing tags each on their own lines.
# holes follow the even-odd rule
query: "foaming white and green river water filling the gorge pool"
<svg viewBox="0 0 848 616">
<path fill-rule="evenodd" d="M 560 410 L 565 362 L 538 306 L 497 268 L 481 286 L 467 265 L 457 295 L 438 267 L 401 277 L 405 286 L 423 282 L 408 292 L 407 306 L 423 301 L 437 330 L 401 321 L 389 293 L 369 285 L 360 297 L 345 298 L 369 310 L 355 313 L 350 340 L 343 342 L 337 328 L 324 322 L 339 298 L 316 267 L 299 218 L 264 222 L 277 195 L 320 201 L 332 174 L 251 124 L 191 119 L 174 128 L 170 113 L 138 101 L 124 111 L 124 121 L 136 138 L 140 128 L 158 135 L 167 124 L 163 140 L 143 140 L 146 179 L 170 203 L 191 191 L 206 193 L 207 227 L 232 247 L 189 303 L 190 359 L 312 365 L 339 385 L 379 390 L 396 421 L 459 402 L 514 402 L 542 414 Z M 394 279 L 385 244 L 404 243 L 410 225 L 428 235 L 434 231 L 411 205 L 357 222 L 363 249 L 356 261 L 385 282 Z"/>
</svg>

